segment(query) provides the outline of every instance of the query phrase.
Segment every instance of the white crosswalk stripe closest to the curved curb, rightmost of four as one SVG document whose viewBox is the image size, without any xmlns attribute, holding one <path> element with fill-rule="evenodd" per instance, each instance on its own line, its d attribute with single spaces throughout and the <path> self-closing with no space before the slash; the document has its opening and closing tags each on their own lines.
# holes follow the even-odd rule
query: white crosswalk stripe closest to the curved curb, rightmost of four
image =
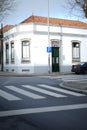
<svg viewBox="0 0 87 130">
<path fill-rule="evenodd" d="M 85 94 L 81 94 L 81 93 L 77 93 L 77 92 L 72 92 L 72 91 L 69 91 L 69 90 L 65 90 L 65 89 L 61 89 L 61 88 L 56 88 L 56 87 L 52 87 L 52 86 L 45 85 L 45 84 L 38 84 L 38 86 L 43 87 L 43 88 L 48 88 L 48 89 L 51 89 L 51 90 L 55 90 L 55 91 L 58 91 L 58 92 L 70 94 L 70 95 L 73 95 L 73 96 L 85 96 Z"/>
</svg>

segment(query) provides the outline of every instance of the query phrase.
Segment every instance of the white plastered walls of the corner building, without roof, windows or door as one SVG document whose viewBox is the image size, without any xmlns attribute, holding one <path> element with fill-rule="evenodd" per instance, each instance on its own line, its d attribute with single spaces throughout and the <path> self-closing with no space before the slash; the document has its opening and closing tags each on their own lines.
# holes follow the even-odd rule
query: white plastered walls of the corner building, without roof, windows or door
<svg viewBox="0 0 87 130">
<path fill-rule="evenodd" d="M 5 64 L 4 55 L 4 70 L 8 69 L 16 72 L 27 73 L 46 73 L 48 72 L 48 26 L 38 24 L 19 24 L 4 34 L 6 42 L 15 43 L 15 64 Z M 30 40 L 30 63 L 21 63 L 21 40 Z M 80 41 L 80 57 L 81 61 L 87 61 L 87 29 L 70 28 L 61 26 L 50 27 L 50 39 L 58 39 L 61 41 L 60 47 L 60 71 L 70 72 L 72 66 L 72 41 Z M 5 49 L 5 48 L 4 48 Z M 5 52 L 5 50 L 4 50 Z M 50 54 L 51 59 L 51 54 Z"/>
</svg>

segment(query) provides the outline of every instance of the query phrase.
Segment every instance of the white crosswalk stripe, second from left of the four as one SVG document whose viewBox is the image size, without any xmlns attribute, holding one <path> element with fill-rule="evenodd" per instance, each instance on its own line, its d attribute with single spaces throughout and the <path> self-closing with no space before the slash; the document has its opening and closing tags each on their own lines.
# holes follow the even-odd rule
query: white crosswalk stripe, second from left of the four
<svg viewBox="0 0 87 130">
<path fill-rule="evenodd" d="M 43 96 L 40 96 L 40 95 L 31 93 L 31 92 L 27 92 L 27 91 L 25 91 L 25 90 L 23 90 L 23 89 L 17 88 L 17 87 L 15 87 L 15 86 L 5 86 L 5 87 L 8 88 L 8 89 L 10 89 L 10 90 L 13 90 L 13 91 L 15 91 L 15 92 L 17 92 L 17 93 L 20 93 L 20 94 L 22 94 L 22 95 L 25 95 L 25 96 L 27 96 L 27 97 L 31 97 L 31 98 L 33 98 L 33 99 L 43 99 L 43 98 L 45 98 L 45 97 L 43 97 Z"/>
</svg>

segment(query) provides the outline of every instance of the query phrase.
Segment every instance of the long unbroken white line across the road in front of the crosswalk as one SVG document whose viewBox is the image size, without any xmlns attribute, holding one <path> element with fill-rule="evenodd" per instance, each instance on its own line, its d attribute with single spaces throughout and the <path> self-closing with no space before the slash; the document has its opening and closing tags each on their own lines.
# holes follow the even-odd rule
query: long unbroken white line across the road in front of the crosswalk
<svg viewBox="0 0 87 130">
<path fill-rule="evenodd" d="M 68 111 L 68 110 L 85 109 L 85 108 L 87 108 L 87 103 L 63 105 L 63 106 L 27 108 L 27 109 L 19 109 L 19 110 L 8 110 L 8 111 L 1 111 L 0 117 L 16 116 L 16 115 L 24 115 L 24 114 L 38 114 L 44 112 Z"/>
</svg>

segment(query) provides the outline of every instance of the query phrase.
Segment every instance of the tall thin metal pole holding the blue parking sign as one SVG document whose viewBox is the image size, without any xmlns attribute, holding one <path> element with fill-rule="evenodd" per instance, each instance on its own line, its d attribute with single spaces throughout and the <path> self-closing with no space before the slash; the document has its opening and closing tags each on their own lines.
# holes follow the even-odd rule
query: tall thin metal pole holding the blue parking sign
<svg viewBox="0 0 87 130">
<path fill-rule="evenodd" d="M 49 21 L 49 0 L 48 0 L 48 47 L 50 47 L 50 21 Z M 50 73 L 50 52 L 48 52 L 48 73 Z"/>
</svg>

